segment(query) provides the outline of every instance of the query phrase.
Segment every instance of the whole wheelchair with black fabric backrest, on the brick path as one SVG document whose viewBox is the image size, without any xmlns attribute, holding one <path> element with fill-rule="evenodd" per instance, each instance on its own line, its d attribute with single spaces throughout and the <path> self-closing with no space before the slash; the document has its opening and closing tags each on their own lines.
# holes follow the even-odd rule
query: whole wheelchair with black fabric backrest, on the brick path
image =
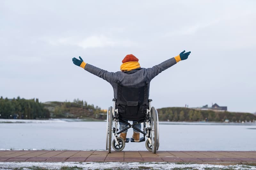
<svg viewBox="0 0 256 170">
<path fill-rule="evenodd" d="M 117 99 L 113 99 L 114 106 L 110 106 L 107 111 L 107 131 L 106 150 L 111 153 L 111 143 L 115 151 L 122 151 L 125 143 L 134 142 L 134 139 L 118 137 L 118 135 L 129 128 L 136 129 L 143 134 L 139 142 L 146 140 L 146 148 L 152 153 L 156 153 L 159 148 L 159 122 L 158 113 L 155 107 L 151 107 L 151 99 L 148 99 L 148 83 L 142 87 L 125 87 L 118 84 Z M 125 120 L 135 121 L 130 124 Z M 118 130 L 118 122 L 128 125 L 123 130 Z M 134 125 L 143 122 L 143 131 Z M 112 140 L 113 137 L 113 141 Z"/>
</svg>

